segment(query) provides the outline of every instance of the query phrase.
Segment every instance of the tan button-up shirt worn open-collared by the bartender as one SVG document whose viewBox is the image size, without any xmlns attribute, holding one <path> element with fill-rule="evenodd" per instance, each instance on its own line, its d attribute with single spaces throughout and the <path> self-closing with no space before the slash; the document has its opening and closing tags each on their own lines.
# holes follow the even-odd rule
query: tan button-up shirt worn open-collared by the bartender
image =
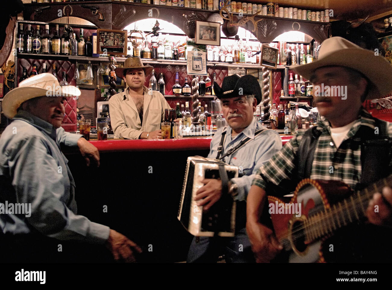
<svg viewBox="0 0 392 290">
<path fill-rule="evenodd" d="M 139 139 L 143 131 L 151 132 L 160 129 L 165 117 L 165 109 L 170 109 L 170 106 L 160 92 L 151 91 L 151 95 L 146 86 L 143 88 L 143 124 L 128 89 L 109 99 L 110 120 L 117 138 Z"/>
</svg>

